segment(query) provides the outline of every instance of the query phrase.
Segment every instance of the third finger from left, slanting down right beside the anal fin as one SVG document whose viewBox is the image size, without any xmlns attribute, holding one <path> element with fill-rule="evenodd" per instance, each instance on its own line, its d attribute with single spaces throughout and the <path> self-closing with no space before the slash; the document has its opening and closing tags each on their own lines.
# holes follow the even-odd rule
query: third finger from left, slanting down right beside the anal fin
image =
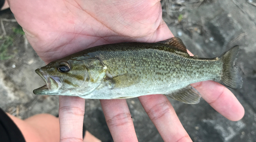
<svg viewBox="0 0 256 142">
<path fill-rule="evenodd" d="M 166 96 L 153 94 L 138 98 L 164 141 L 192 141 Z"/>
</svg>

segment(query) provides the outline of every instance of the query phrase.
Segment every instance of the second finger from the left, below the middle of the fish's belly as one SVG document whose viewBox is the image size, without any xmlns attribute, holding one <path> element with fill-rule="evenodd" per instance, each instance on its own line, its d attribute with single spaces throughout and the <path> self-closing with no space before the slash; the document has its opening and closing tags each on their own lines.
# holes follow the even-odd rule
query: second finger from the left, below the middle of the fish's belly
<svg viewBox="0 0 256 142">
<path fill-rule="evenodd" d="M 138 141 L 125 99 L 100 100 L 106 124 L 114 141 Z"/>
</svg>

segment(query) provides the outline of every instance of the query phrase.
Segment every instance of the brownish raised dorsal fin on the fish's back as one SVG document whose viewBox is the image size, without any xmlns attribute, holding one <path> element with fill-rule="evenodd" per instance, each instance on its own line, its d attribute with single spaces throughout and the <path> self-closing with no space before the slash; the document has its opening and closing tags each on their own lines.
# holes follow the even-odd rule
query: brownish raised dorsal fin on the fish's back
<svg viewBox="0 0 256 142">
<path fill-rule="evenodd" d="M 168 44 L 168 45 L 173 46 L 173 48 L 175 48 L 181 52 L 187 53 L 186 46 L 184 45 L 182 40 L 178 37 L 172 37 L 172 38 L 169 38 L 169 39 L 166 39 L 163 41 L 159 41 L 157 43 Z"/>
</svg>

